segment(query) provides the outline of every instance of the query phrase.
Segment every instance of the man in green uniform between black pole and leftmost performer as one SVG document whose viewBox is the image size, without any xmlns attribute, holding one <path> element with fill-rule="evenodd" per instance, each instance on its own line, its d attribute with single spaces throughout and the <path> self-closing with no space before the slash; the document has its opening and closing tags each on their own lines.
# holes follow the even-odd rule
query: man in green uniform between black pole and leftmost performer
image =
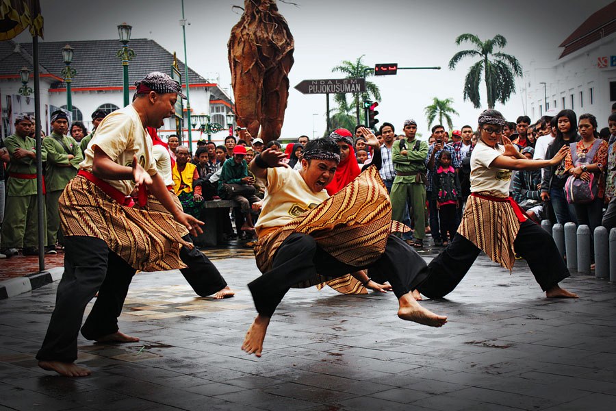
<svg viewBox="0 0 616 411">
<path fill-rule="evenodd" d="M 51 113 L 51 129 L 51 134 L 42 141 L 42 146 L 47 152 L 47 168 L 45 169 L 47 245 L 45 253 L 55 254 L 56 240 L 60 240 L 62 244 L 57 201 L 66 184 L 77 175 L 79 163 L 84 161 L 84 156 L 75 138 L 66 136 L 68 116 L 65 112 L 57 110 Z"/>
</svg>

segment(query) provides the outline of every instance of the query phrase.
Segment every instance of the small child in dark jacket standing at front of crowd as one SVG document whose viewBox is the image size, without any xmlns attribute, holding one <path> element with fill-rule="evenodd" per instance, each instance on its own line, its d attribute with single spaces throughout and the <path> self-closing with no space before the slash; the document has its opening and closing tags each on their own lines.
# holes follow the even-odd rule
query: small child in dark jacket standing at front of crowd
<svg viewBox="0 0 616 411">
<path fill-rule="evenodd" d="M 460 206 L 462 189 L 460 181 L 451 165 L 451 153 L 441 151 L 441 165 L 433 175 L 433 198 L 437 201 L 439 220 L 441 223 L 441 238 L 443 245 L 449 244 L 458 229 L 456 210 Z M 449 235 L 447 234 L 449 233 Z"/>
</svg>

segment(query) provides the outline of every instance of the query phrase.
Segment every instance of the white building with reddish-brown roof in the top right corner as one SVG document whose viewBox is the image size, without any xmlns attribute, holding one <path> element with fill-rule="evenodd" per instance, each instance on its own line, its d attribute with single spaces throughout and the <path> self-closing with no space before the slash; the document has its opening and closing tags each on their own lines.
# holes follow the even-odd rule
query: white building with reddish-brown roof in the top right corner
<svg viewBox="0 0 616 411">
<path fill-rule="evenodd" d="M 546 110 L 574 110 L 597 117 L 599 128 L 607 126 L 616 102 L 616 2 L 598 10 L 559 47 L 554 62 L 531 62 L 524 73 L 526 107 L 535 121 Z"/>
</svg>

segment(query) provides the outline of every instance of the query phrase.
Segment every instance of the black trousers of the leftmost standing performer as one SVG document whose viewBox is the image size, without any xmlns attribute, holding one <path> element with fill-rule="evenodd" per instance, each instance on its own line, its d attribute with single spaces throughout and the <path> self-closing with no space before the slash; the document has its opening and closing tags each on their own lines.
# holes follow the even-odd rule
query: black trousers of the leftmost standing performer
<svg viewBox="0 0 616 411">
<path fill-rule="evenodd" d="M 93 340 L 118 331 L 118 316 L 131 279 L 135 275 L 127 262 L 110 251 L 100 238 L 64 238 L 64 274 L 57 286 L 55 308 L 38 360 L 74 362 L 77 359 L 77 334 L 84 311 L 99 292 L 81 334 Z"/>
</svg>

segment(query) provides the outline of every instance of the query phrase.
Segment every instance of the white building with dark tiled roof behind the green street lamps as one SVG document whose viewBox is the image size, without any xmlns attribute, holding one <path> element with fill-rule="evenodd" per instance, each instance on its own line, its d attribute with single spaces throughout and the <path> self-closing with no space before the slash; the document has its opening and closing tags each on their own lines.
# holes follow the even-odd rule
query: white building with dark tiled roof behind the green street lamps
<svg viewBox="0 0 616 411">
<path fill-rule="evenodd" d="M 83 121 L 88 130 L 92 128 L 91 114 L 94 110 L 117 110 L 123 106 L 123 67 L 116 52 L 121 48 L 118 40 L 91 40 L 70 42 L 40 42 L 40 108 L 42 117 L 50 108 L 66 109 L 66 84 L 62 78 L 62 47 L 69 44 L 75 49 L 73 63 L 70 65 L 77 74 L 72 82 L 73 120 Z M 135 51 L 135 57 L 129 63 L 129 86 L 131 97 L 134 93 L 134 82 L 152 71 L 162 71 L 171 74 L 173 53 L 167 51 L 154 40 L 145 38 L 133 39 L 128 44 Z M 17 44 L 12 41 L 0 42 L 0 106 L 2 108 L 3 137 L 10 135 L 10 100 L 13 103 L 25 103 L 31 107 L 28 112 L 34 112 L 34 99 L 18 96 L 22 83 L 19 71 L 23 66 L 32 69 L 31 43 Z M 184 65 L 178 61 L 179 70 L 184 75 Z M 188 69 L 190 86 L 191 115 L 209 114 L 211 123 L 219 123 L 227 127 L 226 114 L 232 111 L 233 102 L 227 90 L 218 86 L 216 79 L 206 79 L 192 69 Z M 185 83 L 185 79 L 183 79 Z M 34 88 L 31 80 L 29 87 Z M 185 86 L 184 86 L 185 87 Z M 13 97 L 12 97 L 13 96 Z M 22 107 L 24 107 L 22 106 Z M 184 119 L 186 120 L 186 103 L 184 102 Z M 18 110 L 14 110 L 18 111 Z M 193 118 L 192 142 L 207 138 L 198 129 L 199 124 Z M 49 125 L 42 122 L 42 129 L 49 133 Z M 162 137 L 175 134 L 175 119 L 166 119 L 165 125 L 159 130 Z M 222 142 L 229 131 L 214 133 L 211 140 Z M 188 122 L 184 121 L 183 142 L 188 144 Z"/>
</svg>

